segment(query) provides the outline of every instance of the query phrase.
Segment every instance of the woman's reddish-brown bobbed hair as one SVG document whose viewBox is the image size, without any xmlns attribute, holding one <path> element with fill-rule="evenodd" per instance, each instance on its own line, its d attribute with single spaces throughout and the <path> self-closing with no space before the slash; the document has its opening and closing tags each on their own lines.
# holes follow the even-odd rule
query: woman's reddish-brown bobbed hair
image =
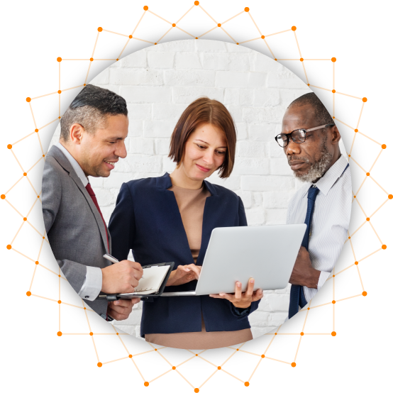
<svg viewBox="0 0 393 393">
<path fill-rule="evenodd" d="M 184 145 L 189 135 L 202 124 L 211 124 L 223 131 L 227 150 L 218 174 L 222 178 L 229 177 L 235 163 L 236 128 L 228 109 L 215 99 L 201 97 L 187 106 L 172 133 L 168 157 L 179 165 L 183 160 Z"/>
</svg>

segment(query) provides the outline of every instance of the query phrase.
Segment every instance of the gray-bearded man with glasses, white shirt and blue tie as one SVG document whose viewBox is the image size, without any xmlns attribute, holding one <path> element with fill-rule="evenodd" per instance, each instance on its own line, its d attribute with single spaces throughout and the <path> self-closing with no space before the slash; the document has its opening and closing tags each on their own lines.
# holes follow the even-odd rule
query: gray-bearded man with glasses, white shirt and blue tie
<svg viewBox="0 0 393 393">
<path fill-rule="evenodd" d="M 289 282 L 289 318 L 303 309 L 326 282 L 348 232 L 351 211 L 350 170 L 338 143 L 340 132 L 314 93 L 294 100 L 275 137 L 304 187 L 289 201 L 287 223 L 307 229 Z"/>
</svg>

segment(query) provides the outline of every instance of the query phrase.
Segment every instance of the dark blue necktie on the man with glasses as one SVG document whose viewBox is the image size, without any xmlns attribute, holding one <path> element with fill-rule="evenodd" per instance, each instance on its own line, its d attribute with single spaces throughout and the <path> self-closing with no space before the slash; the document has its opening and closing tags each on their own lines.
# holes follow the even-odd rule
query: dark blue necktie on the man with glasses
<svg viewBox="0 0 393 393">
<path fill-rule="evenodd" d="M 346 169 L 346 168 L 345 168 Z M 319 189 L 317 187 L 310 187 L 309 194 L 307 195 L 307 213 L 306 213 L 306 220 L 304 223 L 306 224 L 306 233 L 304 233 L 303 241 L 301 245 L 303 245 L 306 250 L 309 250 L 309 238 L 310 238 L 310 226 L 311 226 L 311 219 L 314 213 L 314 205 L 316 195 L 319 193 Z M 297 314 L 299 311 L 299 306 L 304 309 L 306 307 L 307 301 L 304 297 L 304 290 L 301 285 L 294 285 L 292 284 L 291 287 L 291 297 L 289 299 L 289 318 Z"/>
</svg>

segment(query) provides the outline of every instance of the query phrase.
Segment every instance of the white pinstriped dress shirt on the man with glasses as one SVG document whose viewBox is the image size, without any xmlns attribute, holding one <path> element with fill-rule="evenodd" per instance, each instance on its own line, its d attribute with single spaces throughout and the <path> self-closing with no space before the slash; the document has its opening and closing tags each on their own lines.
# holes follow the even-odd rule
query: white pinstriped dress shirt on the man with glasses
<svg viewBox="0 0 393 393">
<path fill-rule="evenodd" d="M 309 302 L 326 282 L 341 254 L 348 233 L 352 208 L 352 182 L 348 161 L 343 155 L 316 183 L 307 182 L 289 201 L 287 223 L 304 223 L 307 194 L 311 185 L 319 188 L 310 226 L 309 254 L 314 269 L 319 270 L 318 288 L 304 288 Z"/>
</svg>

